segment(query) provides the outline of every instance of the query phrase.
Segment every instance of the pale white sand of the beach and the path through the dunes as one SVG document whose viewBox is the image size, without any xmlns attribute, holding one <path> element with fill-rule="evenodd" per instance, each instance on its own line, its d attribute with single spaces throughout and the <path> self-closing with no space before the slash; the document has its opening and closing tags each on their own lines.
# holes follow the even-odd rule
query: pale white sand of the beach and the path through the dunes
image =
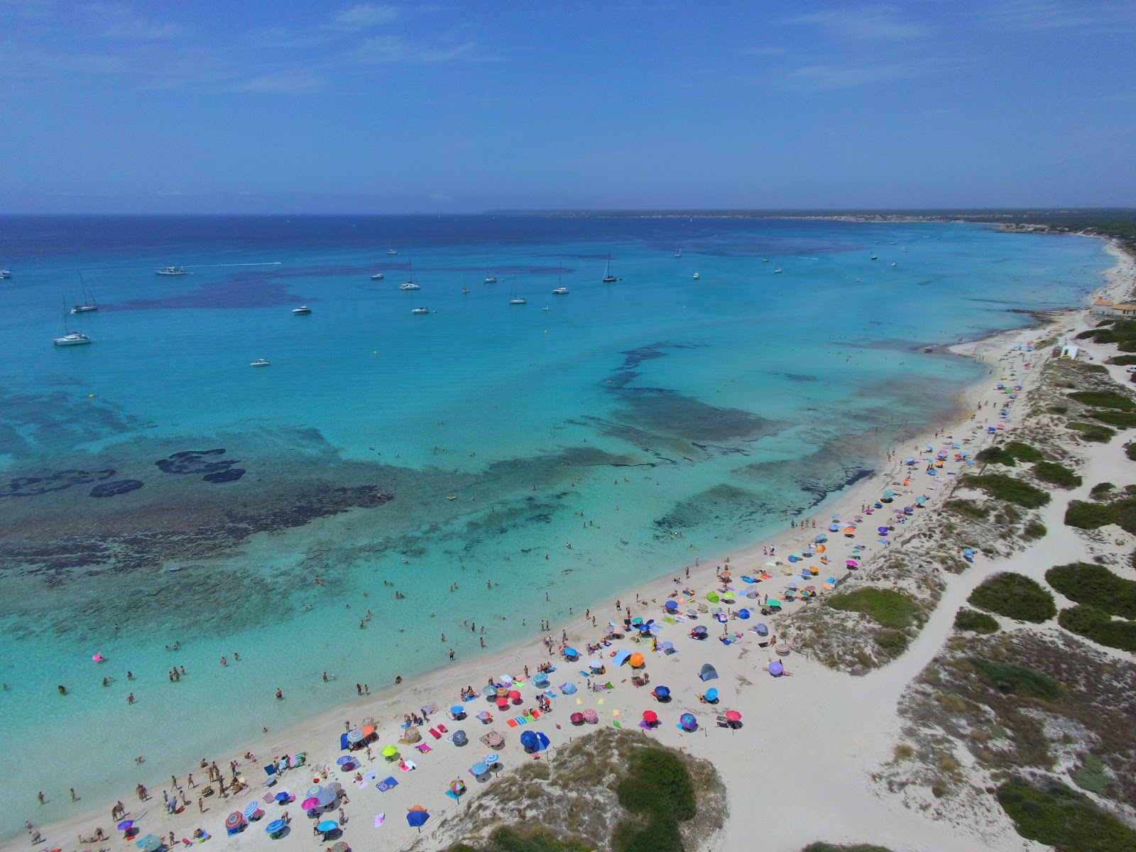
<svg viewBox="0 0 1136 852">
<path fill-rule="evenodd" d="M 1116 250 L 1113 253 L 1118 258 L 1118 266 L 1108 274 L 1108 285 L 1094 296 L 1101 293 L 1112 298 L 1126 295 L 1136 281 L 1133 260 Z M 1091 325 L 1087 310 L 1081 310 L 1063 316 L 1054 327 L 1079 331 Z M 720 588 L 716 583 L 715 571 L 718 566 L 727 567 L 727 558 L 728 569 L 733 575 L 730 585 L 738 595 L 744 595 L 749 588 L 755 588 L 761 599 L 767 595 L 780 598 L 786 586 L 795 582 L 800 586 L 815 585 L 822 598 L 827 593 L 822 588 L 825 579 L 842 576 L 844 560 L 854 544 L 864 545 L 860 561 L 863 568 L 870 568 L 874 554 L 887 546 L 870 533 L 891 512 L 862 516 L 863 523 L 858 525 L 854 538 L 845 538 L 841 533 L 828 533 L 826 556 L 829 557 L 829 563 L 821 565 L 817 558 L 799 563 L 815 565 L 819 569 L 820 573 L 812 579 L 802 579 L 799 570 L 794 571 L 795 576 L 788 576 L 785 570 L 795 566 L 784 562 L 783 557 L 801 551 L 815 535 L 827 532 L 829 516 L 838 515 L 843 527 L 844 523 L 860 515 L 861 504 L 871 503 L 886 488 L 897 492 L 896 506 L 909 503 L 919 494 L 930 498 L 929 508 L 917 510 L 908 525 L 897 529 L 911 529 L 914 525 L 934 523 L 938 506 L 952 487 L 954 477 L 950 474 L 959 473 L 966 461 L 955 460 L 952 451 L 941 475 L 932 478 L 921 468 L 934 456 L 920 456 L 919 451 L 928 444 L 942 448 L 944 441 L 947 444 L 952 441 L 961 443 L 962 451 L 970 456 L 982 449 L 993 437 L 986 431 L 985 419 L 989 417 L 993 425 L 999 406 L 1006 399 L 1003 391 L 995 389 L 996 382 L 1009 375 L 1010 369 L 1016 369 L 1013 379 L 1020 379 L 1022 385 L 1020 398 L 1028 398 L 1038 381 L 1041 365 L 1051 353 L 1049 348 L 1044 352 L 1028 352 L 1025 346 L 1028 341 L 1051 335 L 1050 329 L 1026 328 L 953 348 L 955 352 L 980 359 L 989 366 L 987 377 L 966 392 L 960 417 L 953 423 L 942 424 L 937 436 L 932 432 L 895 448 L 892 459 L 883 462 L 877 473 L 857 483 L 822 513 L 818 512 L 813 517 L 816 528 L 811 525 L 787 528 L 744 552 L 700 558 L 699 567 L 691 567 L 688 579 L 685 574 L 675 575 L 680 578 L 677 586 L 671 576 L 667 576 L 618 595 L 625 607 L 632 607 L 633 616 L 659 620 L 659 642 L 673 642 L 677 649 L 674 654 L 651 653 L 649 643 L 634 644 L 629 637 L 615 641 L 609 648 L 602 649 L 605 661 L 610 661 L 609 654 L 617 649 L 644 651 L 650 686 L 634 686 L 630 683 L 630 669 L 624 666 L 615 670 L 609 668 L 609 674 L 599 678 L 600 682 L 610 680 L 612 690 L 590 692 L 585 687 L 585 677 L 580 675 L 580 669 L 586 668 L 586 655 L 578 665 L 569 665 L 557 653 L 556 648 L 550 657 L 537 638 L 506 651 L 486 652 L 483 658 L 465 660 L 424 678 L 408 678 L 399 687 L 376 691 L 369 698 L 351 701 L 291 729 L 272 730 L 257 742 L 240 744 L 232 753 L 204 755 L 223 769 L 229 760 L 240 760 L 240 771 L 250 786 L 227 800 L 218 795 L 208 797 L 203 813 L 198 810 L 197 791 L 193 790 L 185 790 L 191 805 L 184 812 L 168 816 L 161 807 L 162 782 L 168 791 L 170 775 L 176 775 L 184 783 L 186 774 L 191 771 L 201 782 L 203 770 L 197 766 L 161 766 L 159 758 L 148 758 L 140 767 L 139 777 L 150 790 L 151 797 L 148 802 L 141 803 L 130 790 L 83 791 L 81 802 L 75 805 L 80 812 L 74 818 L 50 826 L 36 826 L 42 832 L 43 842 L 35 847 L 67 851 L 122 849 L 133 852 L 134 846 L 124 843 L 123 833 L 115 830 L 117 820 L 111 820 L 109 816 L 111 804 L 122 800 L 127 809 L 127 818 L 139 821 L 140 836 L 153 834 L 167 838 L 173 833 L 177 846 L 181 846 L 181 838 L 190 837 L 200 827 L 211 834 L 211 838 L 204 843 L 206 850 L 224 847 L 249 852 L 290 852 L 298 849 L 324 849 L 333 841 L 324 843 L 323 838 L 312 835 L 311 820 L 301 810 L 300 800 L 304 790 L 319 778 L 315 768 L 327 766 L 331 767 L 328 779 L 339 780 L 350 799 L 343 805 L 348 817 L 342 827 L 343 836 L 335 840 L 343 840 L 360 852 L 398 850 L 415 843 L 421 844 L 424 849 L 441 849 L 453 838 L 432 833 L 441 830 L 446 812 L 467 807 L 470 801 L 476 801 L 482 787 L 493 784 L 492 779 L 483 783 L 470 776 L 469 767 L 474 762 L 488 752 L 496 751 L 501 758 L 500 771 L 507 774 L 519 762 L 533 760 L 519 743 L 520 734 L 531 729 L 549 736 L 551 747 L 543 759 L 556 761 L 558 745 L 574 737 L 585 736 L 588 730 L 594 729 L 593 726 L 576 727 L 569 724 L 570 713 L 585 709 L 596 711 L 600 726 L 618 722 L 624 727 L 637 727 L 644 710 L 655 710 L 661 724 L 649 734 L 651 737 L 713 761 L 729 791 L 730 818 L 725 830 L 710 838 L 708 849 L 741 852 L 760 845 L 770 852 L 796 852 L 817 840 L 875 842 L 896 852 L 978 852 L 1024 847 L 1025 842 L 1013 833 L 1001 813 L 984 815 L 969 824 L 947 825 L 935 821 L 904 807 L 897 796 L 878 793 L 870 783 L 870 776 L 892 759 L 899 734 L 896 704 L 901 692 L 938 651 L 952 629 L 959 604 L 969 592 L 995 570 L 1019 570 L 1036 577 L 1055 563 L 1054 560 L 1075 561 L 1085 558 L 1088 545 L 1083 537 L 1060 523 L 1063 504 L 1059 501 L 1046 510 L 1045 523 L 1050 533 L 1045 538 L 1009 560 L 992 561 L 978 557 L 969 570 L 952 576 L 936 611 L 907 652 L 899 660 L 863 677 L 851 677 L 830 670 L 793 652 L 787 657 L 777 657 L 772 652 L 772 645 L 761 648 L 759 642 L 765 640 L 751 628 L 758 621 L 765 621 L 774 634 L 779 633 L 776 615 L 763 617 L 754 613 L 749 620 L 729 620 L 726 625 L 729 635 L 733 637 L 740 634 L 740 637 L 728 645 L 717 638 L 722 626 L 710 620 L 709 613 L 700 613 L 693 621 L 676 624 L 661 623 L 661 619 L 665 615 L 662 604 L 676 588 L 695 590 L 695 600 L 701 602 L 705 602 L 707 593 Z M 1021 349 L 1016 349 L 1018 346 Z M 1086 350 L 1095 360 L 1103 360 L 1093 344 L 1086 346 Z M 1026 368 L 1027 364 L 1033 366 Z M 1126 381 L 1124 368 L 1113 367 L 1110 370 L 1119 381 Z M 1013 432 L 1012 415 L 1021 402 L 1022 399 L 1019 399 L 1011 409 L 1011 418 L 1004 432 L 1006 435 Z M 976 411 L 978 414 L 971 420 L 970 415 Z M 946 433 L 951 437 L 945 437 Z M 1103 471 L 1114 468 L 1117 460 L 1124 456 L 1121 443 L 1113 441 L 1085 450 L 1088 470 L 1102 473 L 1086 475 L 1085 485 L 1075 491 L 1074 495 L 1087 491 L 1094 482 L 1106 478 Z M 909 457 L 919 459 L 920 465 L 912 468 L 911 485 L 904 487 L 902 483 L 908 467 L 903 460 Z M 1116 475 L 1109 478 L 1120 482 Z M 763 549 L 770 546 L 776 548 L 775 557 L 763 554 Z M 1046 554 L 1044 560 L 1037 558 L 1039 549 Z M 778 560 L 783 565 L 768 566 L 770 561 Z M 762 569 L 767 569 L 772 577 L 752 585 L 741 580 L 742 576 L 758 576 Z M 621 624 L 623 612 L 617 611 L 615 599 L 613 595 L 611 602 L 595 613 L 596 627 L 583 617 L 565 625 L 553 625 L 549 634 L 557 640 L 556 646 L 562 644 L 560 637 L 567 634 L 568 644 L 583 652 L 584 645 L 598 642 L 603 636 L 603 628 L 609 620 Z M 683 600 L 685 601 L 685 596 Z M 759 604 L 760 600 L 746 601 L 738 596 L 733 609 L 736 610 L 746 602 Z M 816 603 L 804 604 L 797 601 L 787 603 L 786 609 L 802 605 Z M 684 603 L 682 609 L 687 609 L 687 605 Z M 705 625 L 710 637 L 704 641 L 691 638 L 687 634 L 694 625 Z M 766 667 L 772 660 L 780 660 L 790 676 L 770 676 Z M 444 711 L 451 704 L 461 703 L 461 687 L 471 685 L 475 690 L 481 690 L 487 678 L 504 674 L 524 679 L 525 666 L 535 674 L 536 666 L 546 661 L 552 661 L 557 667 L 557 671 L 550 676 L 557 696 L 552 699 L 552 711 L 538 720 L 518 727 L 506 725 L 507 717 L 534 705 L 536 690 L 528 682 L 521 687 L 523 705 L 511 708 L 512 712 L 499 713 L 483 699 L 467 704 L 471 713 L 490 710 L 494 715 L 494 721 L 490 725 L 482 725 L 471 717 L 458 722 L 444 717 Z M 698 673 L 707 662 L 716 667 L 719 678 L 702 683 Z M 575 683 L 579 691 L 575 695 L 565 695 L 559 687 L 566 682 Z M 660 704 L 652 698 L 651 687 L 657 685 L 670 687 L 673 700 L 669 703 Z M 698 700 L 699 694 L 710 686 L 717 687 L 720 693 L 720 703 L 716 707 L 702 704 Z M 411 771 L 402 771 L 396 765 L 384 761 L 379 751 L 399 740 L 403 715 L 428 704 L 436 704 L 441 711 L 420 728 L 423 742 L 431 746 L 431 751 L 420 753 L 411 745 L 400 746 L 401 755 L 417 765 Z M 715 717 L 726 709 L 741 711 L 741 728 L 716 726 Z M 202 712 L 206 711 L 202 708 Z M 698 717 L 699 728 L 695 732 L 685 733 L 677 727 L 678 717 L 683 712 L 692 712 Z M 340 735 L 344 732 L 345 721 L 350 720 L 354 725 L 365 717 L 374 717 L 377 722 L 378 740 L 373 745 L 374 759 L 368 760 L 364 755 L 361 769 L 341 771 L 335 761 L 346 754 L 340 750 Z M 458 747 L 445 738 L 433 738 L 427 729 L 438 721 L 451 733 L 457 729 L 466 730 L 470 742 Z M 492 750 L 478 742 L 478 737 L 490 730 L 504 735 L 506 744 L 502 747 Z M 258 761 L 253 763 L 244 760 L 241 755 L 245 751 L 253 752 Z M 307 766 L 286 771 L 276 786 L 267 787 L 260 766 L 274 755 L 301 751 L 307 752 Z M 51 759 L 58 760 L 60 771 L 65 771 L 62 759 Z M 374 782 L 368 782 L 364 787 L 352 782 L 356 771 L 370 770 L 378 774 L 378 779 L 394 776 L 399 782 L 398 786 L 379 792 Z M 225 775 L 227 778 L 228 772 Z M 459 777 L 465 779 L 468 792 L 460 801 L 454 801 L 446 796 L 446 791 L 450 783 Z M 266 794 L 281 790 L 295 794 L 296 801 L 283 808 L 275 802 L 262 804 L 264 818 L 248 825 L 242 833 L 226 837 L 224 822 L 229 812 L 243 811 L 248 804 L 259 802 Z M 414 805 L 421 805 L 432 815 L 420 835 L 406 820 L 407 810 Z M 265 826 L 283 810 L 290 812 L 291 829 L 279 840 L 273 840 Z M 381 827 L 375 825 L 377 815 L 385 815 Z M 34 813 L 30 812 L 28 816 L 34 821 Z M 335 817 L 335 811 L 329 817 Z M 110 840 L 93 844 L 80 842 L 81 836 L 92 835 L 95 827 L 102 827 Z M 28 838 L 24 836 L 3 843 L 0 850 L 28 846 Z"/>
</svg>

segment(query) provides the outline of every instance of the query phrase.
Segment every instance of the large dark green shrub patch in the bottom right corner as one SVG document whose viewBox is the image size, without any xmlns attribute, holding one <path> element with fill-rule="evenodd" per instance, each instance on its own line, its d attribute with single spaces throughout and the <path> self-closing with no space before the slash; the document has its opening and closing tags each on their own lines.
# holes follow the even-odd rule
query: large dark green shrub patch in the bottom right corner
<svg viewBox="0 0 1136 852">
<path fill-rule="evenodd" d="M 1131 852 L 1136 832 L 1084 793 L 1055 780 L 1034 786 L 1021 778 L 997 788 L 997 801 L 1018 834 L 1056 852 Z"/>
</svg>

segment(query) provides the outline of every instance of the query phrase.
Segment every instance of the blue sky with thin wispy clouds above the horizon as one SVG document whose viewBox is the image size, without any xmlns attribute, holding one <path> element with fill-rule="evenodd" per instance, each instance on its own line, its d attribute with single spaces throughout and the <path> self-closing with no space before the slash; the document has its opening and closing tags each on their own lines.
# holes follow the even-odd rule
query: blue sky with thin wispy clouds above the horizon
<svg viewBox="0 0 1136 852">
<path fill-rule="evenodd" d="M 0 212 L 1136 206 L 1136 2 L 0 0 Z"/>
</svg>

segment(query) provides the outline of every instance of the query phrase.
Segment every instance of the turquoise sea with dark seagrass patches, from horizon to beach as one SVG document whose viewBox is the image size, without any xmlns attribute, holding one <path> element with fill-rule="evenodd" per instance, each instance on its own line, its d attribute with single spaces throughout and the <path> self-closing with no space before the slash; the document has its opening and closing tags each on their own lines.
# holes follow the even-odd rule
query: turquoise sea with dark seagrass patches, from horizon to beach
<svg viewBox="0 0 1136 852">
<path fill-rule="evenodd" d="M 0 835 L 817 511 L 980 375 L 925 345 L 1109 266 L 966 224 L 0 218 Z"/>
</svg>

